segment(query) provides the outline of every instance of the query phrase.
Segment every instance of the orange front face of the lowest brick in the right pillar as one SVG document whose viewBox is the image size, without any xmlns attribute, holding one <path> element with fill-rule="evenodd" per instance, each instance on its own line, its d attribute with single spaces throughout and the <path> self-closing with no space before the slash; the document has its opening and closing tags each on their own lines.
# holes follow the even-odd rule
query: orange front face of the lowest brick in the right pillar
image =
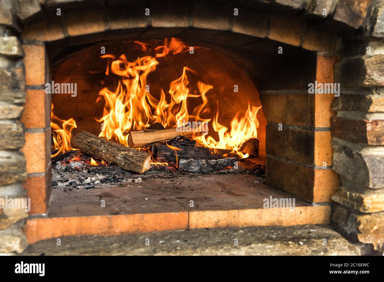
<svg viewBox="0 0 384 282">
<path fill-rule="evenodd" d="M 313 203 L 333 202 L 333 196 L 340 186 L 339 175 L 331 169 L 314 171 Z"/>
</svg>

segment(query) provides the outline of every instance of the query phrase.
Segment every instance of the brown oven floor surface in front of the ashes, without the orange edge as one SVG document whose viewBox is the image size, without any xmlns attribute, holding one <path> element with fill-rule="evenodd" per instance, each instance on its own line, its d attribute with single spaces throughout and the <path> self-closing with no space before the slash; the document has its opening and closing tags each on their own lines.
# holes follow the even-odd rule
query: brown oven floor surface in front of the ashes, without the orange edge
<svg viewBox="0 0 384 282">
<path fill-rule="evenodd" d="M 48 217 L 182 211 L 262 209 L 264 198 L 292 198 L 284 191 L 255 183 L 252 175 L 170 175 L 88 190 L 53 189 Z M 105 201 L 105 207 L 101 206 Z M 190 201 L 193 201 L 193 207 Z M 295 200 L 296 207 L 311 206 Z"/>
</svg>

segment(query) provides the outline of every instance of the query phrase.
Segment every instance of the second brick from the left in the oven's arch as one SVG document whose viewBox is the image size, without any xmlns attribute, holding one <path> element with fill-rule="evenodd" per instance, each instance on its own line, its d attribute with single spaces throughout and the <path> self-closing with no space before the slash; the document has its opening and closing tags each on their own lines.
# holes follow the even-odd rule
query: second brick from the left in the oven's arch
<svg viewBox="0 0 384 282">
<path fill-rule="evenodd" d="M 85 35 L 104 31 L 103 14 L 100 11 L 73 10 L 65 15 L 67 30 L 70 36 Z"/>
</svg>

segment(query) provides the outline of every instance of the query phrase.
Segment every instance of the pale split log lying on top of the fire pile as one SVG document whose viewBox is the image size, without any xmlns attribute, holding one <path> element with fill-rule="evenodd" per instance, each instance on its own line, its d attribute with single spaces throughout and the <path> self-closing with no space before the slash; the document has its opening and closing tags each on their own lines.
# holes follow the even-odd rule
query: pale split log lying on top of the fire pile
<svg viewBox="0 0 384 282">
<path fill-rule="evenodd" d="M 208 128 L 204 131 L 195 130 L 195 131 L 178 131 L 177 127 L 172 127 L 169 129 L 144 129 L 144 130 L 131 130 L 128 135 L 128 145 L 131 148 L 146 147 L 155 143 L 166 142 L 167 140 L 174 139 L 177 136 L 201 136 L 209 133 Z"/>
</svg>

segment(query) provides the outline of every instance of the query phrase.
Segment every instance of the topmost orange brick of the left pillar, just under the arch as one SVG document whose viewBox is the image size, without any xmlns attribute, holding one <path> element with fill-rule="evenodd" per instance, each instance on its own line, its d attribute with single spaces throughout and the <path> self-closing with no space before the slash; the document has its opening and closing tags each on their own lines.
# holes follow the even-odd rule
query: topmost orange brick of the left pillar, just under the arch
<svg viewBox="0 0 384 282">
<path fill-rule="evenodd" d="M 23 45 L 25 80 L 27 85 L 45 84 L 46 54 L 43 45 Z"/>
</svg>

